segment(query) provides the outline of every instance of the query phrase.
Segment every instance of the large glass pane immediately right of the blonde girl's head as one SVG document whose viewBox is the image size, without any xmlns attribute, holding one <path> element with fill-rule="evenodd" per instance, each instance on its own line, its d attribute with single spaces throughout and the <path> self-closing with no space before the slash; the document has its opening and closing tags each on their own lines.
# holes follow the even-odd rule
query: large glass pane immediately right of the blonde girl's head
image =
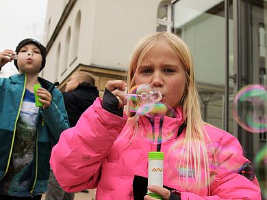
<svg viewBox="0 0 267 200">
<path fill-rule="evenodd" d="M 179 0 L 173 4 L 173 29 L 190 47 L 203 119 L 219 128 L 224 128 L 225 119 L 224 3 L 222 0 Z M 229 30 L 229 44 L 232 44 L 233 20 L 231 18 Z M 233 48 L 229 49 L 229 54 L 233 55 Z M 232 93 L 232 91 L 233 82 L 229 92 Z M 228 121 L 229 131 L 232 132 L 232 116 L 229 116 Z"/>
</svg>

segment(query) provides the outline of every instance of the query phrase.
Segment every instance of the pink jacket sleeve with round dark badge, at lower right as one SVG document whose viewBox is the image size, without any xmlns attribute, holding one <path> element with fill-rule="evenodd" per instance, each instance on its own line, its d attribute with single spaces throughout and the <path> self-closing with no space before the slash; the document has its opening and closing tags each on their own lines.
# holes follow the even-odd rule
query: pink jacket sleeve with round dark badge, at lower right
<svg viewBox="0 0 267 200">
<path fill-rule="evenodd" d="M 252 168 L 249 168 L 251 171 L 247 171 L 248 177 L 245 177 L 244 167 L 251 164 L 243 156 L 238 139 L 227 133 L 213 146 L 217 164 L 214 165 L 211 196 L 200 197 L 191 192 L 181 192 L 181 200 L 262 199 L 257 177 Z"/>
</svg>

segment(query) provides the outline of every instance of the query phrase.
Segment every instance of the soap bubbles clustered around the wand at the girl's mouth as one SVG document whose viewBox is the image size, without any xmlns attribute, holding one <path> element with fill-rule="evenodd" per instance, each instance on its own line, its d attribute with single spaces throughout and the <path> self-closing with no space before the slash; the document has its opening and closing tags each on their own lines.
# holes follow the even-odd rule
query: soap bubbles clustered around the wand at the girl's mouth
<svg viewBox="0 0 267 200">
<path fill-rule="evenodd" d="M 128 109 L 132 113 L 144 115 L 147 117 L 153 116 L 174 116 L 174 111 L 170 106 L 160 102 L 162 94 L 156 87 L 145 83 L 136 85 L 131 88 L 129 94 L 126 96 L 128 102 Z"/>
</svg>

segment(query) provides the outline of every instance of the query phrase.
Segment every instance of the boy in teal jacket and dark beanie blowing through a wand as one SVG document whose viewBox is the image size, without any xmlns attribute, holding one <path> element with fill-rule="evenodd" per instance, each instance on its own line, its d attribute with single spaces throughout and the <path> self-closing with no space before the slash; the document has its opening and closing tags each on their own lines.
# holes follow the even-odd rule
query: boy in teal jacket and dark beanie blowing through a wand
<svg viewBox="0 0 267 200">
<path fill-rule="evenodd" d="M 0 78 L 0 199 L 41 199 L 47 190 L 51 145 L 69 127 L 62 94 L 38 77 L 46 49 L 27 38 L 0 52 L 0 70 L 14 59 L 19 74 Z M 34 85 L 42 106 L 35 105 Z"/>
</svg>

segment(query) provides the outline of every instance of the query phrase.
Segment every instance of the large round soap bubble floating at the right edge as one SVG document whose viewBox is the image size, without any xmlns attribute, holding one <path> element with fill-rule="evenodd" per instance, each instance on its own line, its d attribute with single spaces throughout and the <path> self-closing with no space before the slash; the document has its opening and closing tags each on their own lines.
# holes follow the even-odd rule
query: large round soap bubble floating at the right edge
<svg viewBox="0 0 267 200">
<path fill-rule="evenodd" d="M 233 100 L 233 117 L 249 132 L 267 131 L 267 87 L 246 85 Z"/>
</svg>

